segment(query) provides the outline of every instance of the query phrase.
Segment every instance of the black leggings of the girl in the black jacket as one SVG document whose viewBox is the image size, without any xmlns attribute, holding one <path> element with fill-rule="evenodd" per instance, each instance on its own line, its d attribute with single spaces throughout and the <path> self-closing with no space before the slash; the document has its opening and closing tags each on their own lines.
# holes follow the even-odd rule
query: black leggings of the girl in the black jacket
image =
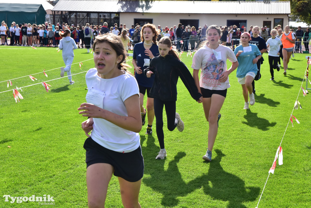
<svg viewBox="0 0 311 208">
<path fill-rule="evenodd" d="M 176 101 L 162 101 L 160 99 L 153 99 L 153 107 L 156 116 L 156 135 L 158 136 L 160 148 L 164 149 L 164 133 L 163 133 L 163 106 L 165 105 L 165 112 L 167 117 L 167 128 L 173 131 L 177 122 L 175 122 Z"/>
</svg>

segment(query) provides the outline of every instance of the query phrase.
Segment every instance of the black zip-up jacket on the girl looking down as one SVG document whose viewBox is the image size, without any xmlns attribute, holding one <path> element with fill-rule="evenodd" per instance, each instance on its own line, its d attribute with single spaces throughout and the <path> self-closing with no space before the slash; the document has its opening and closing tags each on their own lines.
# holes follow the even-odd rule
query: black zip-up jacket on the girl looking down
<svg viewBox="0 0 311 208">
<path fill-rule="evenodd" d="M 198 92 L 187 66 L 173 55 L 154 57 L 151 59 L 149 67 L 144 70 L 145 75 L 147 71 L 152 71 L 153 74 L 151 76 L 155 76 L 150 90 L 152 98 L 163 101 L 176 101 L 178 77 L 183 81 L 193 99 L 198 100 L 202 96 Z"/>
</svg>

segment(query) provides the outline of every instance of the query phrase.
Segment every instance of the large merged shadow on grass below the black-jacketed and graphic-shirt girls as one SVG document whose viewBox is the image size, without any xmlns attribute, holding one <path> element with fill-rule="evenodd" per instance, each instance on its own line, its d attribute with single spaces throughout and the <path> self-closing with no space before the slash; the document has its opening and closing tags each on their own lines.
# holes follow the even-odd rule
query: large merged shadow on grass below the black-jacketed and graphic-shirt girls
<svg viewBox="0 0 311 208">
<path fill-rule="evenodd" d="M 142 147 L 145 162 L 145 175 L 142 182 L 163 195 L 161 205 L 164 207 L 174 207 L 179 204 L 179 197 L 187 196 L 189 193 L 203 188 L 206 195 L 222 201 L 229 201 L 227 207 L 245 207 L 242 202 L 254 201 L 259 196 L 259 187 L 247 187 L 242 179 L 225 172 L 220 165 L 221 158 L 225 156 L 220 150 L 215 150 L 217 156 L 212 162 L 207 163 L 209 170 L 200 177 L 186 183 L 178 169 L 178 162 L 186 156 L 185 152 L 178 152 L 174 159 L 169 162 L 167 170 L 164 170 L 166 159 L 156 160 L 157 151 L 160 150 L 155 145 L 152 136 L 141 137 L 141 144 L 146 141 L 147 146 Z M 156 141 L 157 142 L 157 141 Z M 215 154 L 215 153 L 214 153 Z M 173 157 L 168 154 L 167 157 Z M 189 169 L 191 166 L 189 166 Z M 194 168 L 195 170 L 195 168 Z"/>
</svg>

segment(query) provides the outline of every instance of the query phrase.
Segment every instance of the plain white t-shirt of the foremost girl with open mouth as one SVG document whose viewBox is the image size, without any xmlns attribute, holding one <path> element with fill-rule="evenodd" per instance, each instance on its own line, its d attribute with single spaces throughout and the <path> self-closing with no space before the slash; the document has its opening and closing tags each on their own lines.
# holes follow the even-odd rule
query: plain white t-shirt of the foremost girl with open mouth
<svg viewBox="0 0 311 208">
<path fill-rule="evenodd" d="M 86 73 L 85 79 L 88 88 L 86 102 L 120 116 L 128 116 L 124 101 L 132 95 L 139 95 L 135 77 L 125 73 L 111 79 L 102 79 L 97 75 L 96 68 L 92 68 Z M 118 127 L 105 119 L 93 120 L 91 137 L 101 146 L 116 152 L 132 152 L 139 147 L 139 133 Z"/>
</svg>

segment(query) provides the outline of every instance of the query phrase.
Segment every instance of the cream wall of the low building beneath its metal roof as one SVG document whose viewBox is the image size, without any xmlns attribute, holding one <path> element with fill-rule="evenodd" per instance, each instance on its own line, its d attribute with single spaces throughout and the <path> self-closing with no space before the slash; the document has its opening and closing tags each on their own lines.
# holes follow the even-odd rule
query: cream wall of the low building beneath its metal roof
<svg viewBox="0 0 311 208">
<path fill-rule="evenodd" d="M 134 18 L 139 19 L 153 19 L 153 24 L 156 26 L 173 27 L 178 25 L 180 19 L 198 19 L 199 26 L 203 27 L 204 24 L 225 26 L 227 20 L 247 20 L 246 27 L 251 25 L 263 26 L 263 21 L 271 21 L 272 27 L 274 18 L 283 18 L 284 25 L 288 24 L 288 16 L 286 14 L 174 14 L 174 13 L 120 13 L 120 23 L 126 24 L 128 28 L 134 24 Z M 197 28 L 196 28 L 197 29 Z"/>
</svg>

